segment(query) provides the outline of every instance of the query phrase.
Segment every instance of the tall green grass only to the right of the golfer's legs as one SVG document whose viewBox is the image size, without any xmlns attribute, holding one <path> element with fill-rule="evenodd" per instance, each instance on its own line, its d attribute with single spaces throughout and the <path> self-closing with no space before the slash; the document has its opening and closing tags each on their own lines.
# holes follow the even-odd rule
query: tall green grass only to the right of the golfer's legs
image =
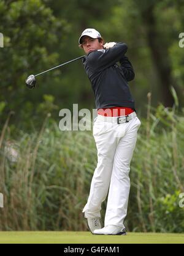
<svg viewBox="0 0 184 256">
<path fill-rule="evenodd" d="M 134 231 L 183 232 L 184 118 L 174 108 L 151 110 L 137 138 L 131 163 L 128 226 Z"/>
</svg>

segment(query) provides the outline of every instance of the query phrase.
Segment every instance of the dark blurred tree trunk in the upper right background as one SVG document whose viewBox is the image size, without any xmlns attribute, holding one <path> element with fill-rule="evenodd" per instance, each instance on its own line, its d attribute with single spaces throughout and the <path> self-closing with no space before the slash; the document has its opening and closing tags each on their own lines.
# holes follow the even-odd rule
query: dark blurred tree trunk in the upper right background
<svg viewBox="0 0 184 256">
<path fill-rule="evenodd" d="M 159 24 L 164 20 L 159 17 L 161 17 L 165 9 L 173 8 L 174 4 L 167 0 L 162 2 L 158 0 L 134 0 L 134 2 L 142 18 L 142 25 L 145 28 L 147 43 L 161 86 L 163 104 L 164 106 L 173 106 L 174 98 L 171 93 L 171 86 L 180 95 L 177 84 L 175 84 L 176 81 L 172 76 L 172 60 L 169 55 L 169 47 L 173 41 L 171 35 L 175 33 L 174 28 L 171 28 L 171 31 L 164 29 L 163 23 L 162 25 Z"/>
</svg>

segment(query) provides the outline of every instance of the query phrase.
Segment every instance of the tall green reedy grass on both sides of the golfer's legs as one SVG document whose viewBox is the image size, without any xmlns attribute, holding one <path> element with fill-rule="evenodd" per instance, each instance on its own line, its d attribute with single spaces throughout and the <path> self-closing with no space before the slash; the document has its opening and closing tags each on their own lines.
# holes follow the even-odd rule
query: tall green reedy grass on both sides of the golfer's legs
<svg viewBox="0 0 184 256">
<path fill-rule="evenodd" d="M 15 140 L 9 118 L 0 137 L 0 230 L 87 230 L 82 209 L 97 164 L 91 131 L 61 132 L 44 121 Z M 131 162 L 126 226 L 130 231 L 183 232 L 184 118 L 148 103 Z M 102 207 L 104 217 L 105 202 Z"/>
</svg>

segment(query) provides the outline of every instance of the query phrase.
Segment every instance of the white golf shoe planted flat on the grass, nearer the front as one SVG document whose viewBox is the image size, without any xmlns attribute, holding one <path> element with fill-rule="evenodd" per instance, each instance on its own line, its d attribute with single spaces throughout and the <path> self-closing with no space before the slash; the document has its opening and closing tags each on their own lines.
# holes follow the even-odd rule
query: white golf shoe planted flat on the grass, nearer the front
<svg viewBox="0 0 184 256">
<path fill-rule="evenodd" d="M 101 230 L 94 230 L 93 234 L 113 234 L 125 236 L 126 230 L 121 226 L 108 225 L 101 228 Z"/>
</svg>

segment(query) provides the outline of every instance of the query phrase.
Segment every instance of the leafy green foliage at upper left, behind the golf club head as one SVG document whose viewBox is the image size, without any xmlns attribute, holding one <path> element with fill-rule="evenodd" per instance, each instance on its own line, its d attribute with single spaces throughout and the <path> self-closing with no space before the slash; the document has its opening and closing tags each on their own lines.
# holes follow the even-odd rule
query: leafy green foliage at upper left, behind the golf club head
<svg viewBox="0 0 184 256">
<path fill-rule="evenodd" d="M 36 74 L 58 62 L 56 46 L 62 44 L 60 38 L 64 37 L 67 23 L 58 20 L 42 0 L 1 1 L 0 13 L 0 31 L 5 38 L 0 54 L 0 100 L 6 102 L 4 118 L 8 111 L 14 110 L 17 121 L 27 116 L 25 121 L 29 122 L 33 112 L 23 106 L 31 102 L 39 105 L 44 86 L 31 92 L 25 87 L 25 79 L 29 72 Z"/>
</svg>

